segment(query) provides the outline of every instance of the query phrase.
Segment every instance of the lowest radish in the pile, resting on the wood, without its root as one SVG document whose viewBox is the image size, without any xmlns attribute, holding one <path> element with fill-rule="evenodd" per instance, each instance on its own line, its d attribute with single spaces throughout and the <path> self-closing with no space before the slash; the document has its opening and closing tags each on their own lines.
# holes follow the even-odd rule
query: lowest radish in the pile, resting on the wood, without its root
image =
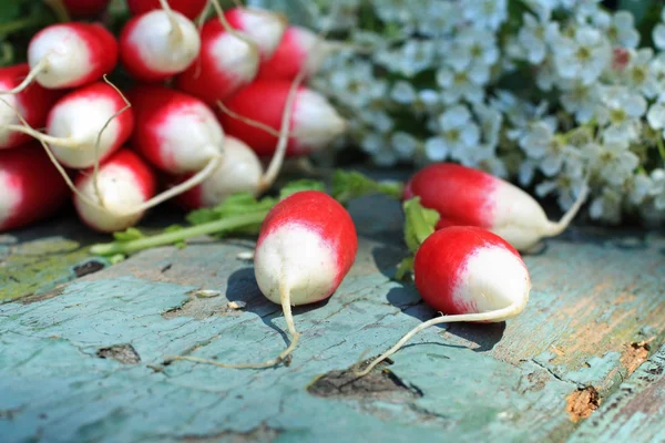
<svg viewBox="0 0 665 443">
<path fill-rule="evenodd" d="M 85 225 L 101 233 L 124 230 L 135 225 L 144 214 L 136 208 L 155 195 L 155 174 L 126 148 L 100 165 L 96 189 L 93 176 L 92 171 L 79 173 L 74 182 L 79 190 L 74 194 L 74 207 Z"/>
</svg>

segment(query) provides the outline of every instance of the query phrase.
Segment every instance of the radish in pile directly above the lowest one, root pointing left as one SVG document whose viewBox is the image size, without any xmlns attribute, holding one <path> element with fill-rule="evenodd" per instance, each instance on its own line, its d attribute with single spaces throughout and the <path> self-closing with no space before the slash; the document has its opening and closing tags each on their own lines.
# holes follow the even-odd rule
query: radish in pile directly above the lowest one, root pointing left
<svg viewBox="0 0 665 443">
<path fill-rule="evenodd" d="M 134 116 L 120 91 L 96 82 L 70 92 L 53 105 L 47 134 L 27 125 L 3 127 L 48 143 L 61 164 L 82 169 L 93 166 L 95 159 L 103 161 L 129 138 Z"/>
</svg>

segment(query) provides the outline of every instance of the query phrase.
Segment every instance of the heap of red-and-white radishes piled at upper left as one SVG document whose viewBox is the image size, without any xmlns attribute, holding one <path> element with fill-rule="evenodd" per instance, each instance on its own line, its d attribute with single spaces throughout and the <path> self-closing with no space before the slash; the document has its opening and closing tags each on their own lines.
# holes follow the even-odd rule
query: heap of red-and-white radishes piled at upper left
<svg viewBox="0 0 665 443">
<path fill-rule="evenodd" d="M 27 63 L 0 69 L 0 150 L 12 151 L 0 156 L 11 189 L 0 230 L 70 199 L 85 225 L 112 233 L 166 200 L 194 209 L 259 195 L 285 157 L 323 150 L 346 127 L 303 85 L 326 42 L 282 16 L 224 11 L 218 0 L 126 0 L 132 17 L 114 35 L 95 21 L 108 0 L 62 4 L 76 21 L 41 29 Z M 116 87 L 117 70 L 133 84 Z M 28 198 L 31 181 L 43 198 Z"/>
</svg>

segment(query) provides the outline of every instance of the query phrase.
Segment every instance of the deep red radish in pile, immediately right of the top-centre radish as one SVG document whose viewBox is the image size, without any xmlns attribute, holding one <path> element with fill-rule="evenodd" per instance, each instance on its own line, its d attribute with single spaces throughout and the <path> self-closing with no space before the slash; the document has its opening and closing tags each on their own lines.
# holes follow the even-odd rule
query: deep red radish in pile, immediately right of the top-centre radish
<svg viewBox="0 0 665 443">
<path fill-rule="evenodd" d="M 198 58 L 177 75 L 177 89 L 197 96 L 211 106 L 224 101 L 256 76 L 257 48 L 226 32 L 218 18 L 205 22 L 201 31 Z"/>
</svg>

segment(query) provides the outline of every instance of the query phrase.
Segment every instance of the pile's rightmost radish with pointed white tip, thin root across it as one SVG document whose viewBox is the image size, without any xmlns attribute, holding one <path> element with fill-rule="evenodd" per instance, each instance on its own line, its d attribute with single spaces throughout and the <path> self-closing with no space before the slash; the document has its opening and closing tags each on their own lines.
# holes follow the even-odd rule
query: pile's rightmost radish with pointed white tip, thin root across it
<svg viewBox="0 0 665 443">
<path fill-rule="evenodd" d="M 235 114 L 272 127 L 280 128 L 286 100 L 290 90 L 287 81 L 254 82 L 243 89 L 226 103 Z M 277 137 L 218 111 L 219 121 L 227 134 L 249 145 L 259 156 L 269 156 L 275 152 Z M 299 87 L 293 106 L 287 155 L 306 155 L 323 150 L 344 133 L 346 122 L 330 103 L 319 93 Z"/>
</svg>

